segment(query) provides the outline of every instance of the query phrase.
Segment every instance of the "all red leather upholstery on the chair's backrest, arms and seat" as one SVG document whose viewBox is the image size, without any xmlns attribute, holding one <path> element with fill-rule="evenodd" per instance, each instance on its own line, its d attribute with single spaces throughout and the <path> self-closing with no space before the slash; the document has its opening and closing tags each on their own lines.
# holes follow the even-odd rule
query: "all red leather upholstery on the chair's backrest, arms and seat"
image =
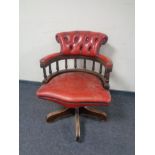
<svg viewBox="0 0 155 155">
<path fill-rule="evenodd" d="M 109 58 L 99 54 L 101 44 L 105 44 L 108 40 L 105 34 L 91 31 L 61 32 L 56 34 L 56 40 L 61 45 L 60 52 L 50 54 L 40 60 L 44 78 L 47 77 L 45 67 L 48 67 L 53 59 L 57 60 L 57 57 L 61 55 L 62 57 L 83 55 L 92 56 L 103 62 L 107 69 L 104 75 L 104 82 L 106 82 L 112 69 L 112 62 Z M 38 89 L 37 96 L 69 108 L 105 106 L 111 101 L 110 92 L 103 87 L 100 79 L 84 72 L 68 72 L 55 76 Z"/>
</svg>

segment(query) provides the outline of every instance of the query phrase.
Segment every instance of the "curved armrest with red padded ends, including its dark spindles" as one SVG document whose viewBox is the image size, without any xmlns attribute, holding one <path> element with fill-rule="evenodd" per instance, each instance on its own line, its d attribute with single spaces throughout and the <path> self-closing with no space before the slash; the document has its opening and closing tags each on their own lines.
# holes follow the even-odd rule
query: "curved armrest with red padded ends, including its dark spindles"
<svg viewBox="0 0 155 155">
<path fill-rule="evenodd" d="M 104 83 L 104 87 L 109 89 L 109 77 L 110 77 L 110 72 L 112 71 L 112 61 L 107 58 L 106 56 L 102 55 L 102 54 L 98 54 L 97 56 L 95 56 L 94 58 L 93 57 L 87 57 L 87 56 L 80 56 L 80 55 L 72 55 L 72 56 L 65 56 L 63 55 L 62 53 L 53 53 L 53 54 L 50 54 L 50 55 L 47 55 L 45 57 L 43 57 L 41 60 L 40 60 L 40 67 L 43 69 L 43 74 L 44 74 L 44 82 L 48 81 L 48 79 L 51 78 L 51 75 L 53 74 L 52 73 L 52 69 L 51 69 L 51 63 L 55 62 L 56 61 L 56 70 L 57 70 L 57 73 L 59 72 L 59 63 L 58 61 L 61 60 L 61 59 L 65 59 L 65 68 L 67 70 L 67 61 L 66 59 L 69 58 L 69 59 L 74 59 L 74 67 L 76 69 L 77 67 L 77 62 L 75 60 L 75 58 L 88 58 L 88 59 L 91 59 L 93 61 L 93 64 L 95 61 L 99 62 L 100 63 L 100 73 L 102 72 L 102 65 L 105 67 L 105 73 L 104 73 L 104 76 L 102 75 L 102 80 L 103 80 L 103 83 Z M 86 61 L 84 61 L 84 68 L 86 69 Z M 49 75 L 46 74 L 46 67 L 49 68 Z M 94 66 L 92 66 L 94 68 Z M 92 68 L 92 70 L 94 70 Z"/>
</svg>

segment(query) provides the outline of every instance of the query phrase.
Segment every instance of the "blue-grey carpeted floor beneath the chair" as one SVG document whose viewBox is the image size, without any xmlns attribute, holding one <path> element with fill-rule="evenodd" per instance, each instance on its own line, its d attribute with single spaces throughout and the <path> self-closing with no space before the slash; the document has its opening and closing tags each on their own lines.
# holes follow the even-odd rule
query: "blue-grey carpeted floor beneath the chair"
<svg viewBox="0 0 155 155">
<path fill-rule="evenodd" d="M 81 142 L 74 117 L 48 124 L 48 112 L 62 108 L 35 96 L 39 83 L 20 81 L 20 155 L 134 155 L 134 93 L 112 91 L 108 121 L 81 118 Z M 12 133 L 13 134 L 13 133 Z"/>
</svg>

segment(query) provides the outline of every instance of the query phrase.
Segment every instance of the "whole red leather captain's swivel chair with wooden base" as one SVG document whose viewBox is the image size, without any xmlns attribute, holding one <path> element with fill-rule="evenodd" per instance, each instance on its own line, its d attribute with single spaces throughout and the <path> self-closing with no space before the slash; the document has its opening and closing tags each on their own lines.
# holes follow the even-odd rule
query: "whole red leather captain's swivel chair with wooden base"
<svg viewBox="0 0 155 155">
<path fill-rule="evenodd" d="M 99 54 L 101 45 L 107 42 L 108 37 L 99 32 L 72 31 L 56 34 L 56 40 L 61 46 L 60 52 L 52 53 L 40 60 L 44 80 L 37 90 L 37 96 L 65 107 L 60 111 L 49 113 L 47 122 L 75 114 L 76 140 L 79 140 L 79 114 L 103 120 L 107 118 L 105 112 L 90 106 L 108 106 L 111 101 L 109 75 L 112 71 L 112 62 Z M 73 68 L 68 67 L 69 59 L 74 62 Z M 83 62 L 82 68 L 77 65 L 79 59 Z M 59 67 L 60 60 L 64 61 L 64 69 Z M 92 61 L 91 69 L 88 69 L 88 60 Z M 53 63 L 56 64 L 55 72 L 52 70 Z M 96 63 L 99 63 L 98 71 L 95 70 Z M 103 67 L 104 73 L 102 73 Z"/>
</svg>

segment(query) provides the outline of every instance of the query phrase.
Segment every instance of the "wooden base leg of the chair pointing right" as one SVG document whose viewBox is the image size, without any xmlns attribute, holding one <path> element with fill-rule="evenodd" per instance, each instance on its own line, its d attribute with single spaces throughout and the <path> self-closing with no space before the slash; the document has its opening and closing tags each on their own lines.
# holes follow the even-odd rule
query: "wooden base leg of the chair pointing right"
<svg viewBox="0 0 155 155">
<path fill-rule="evenodd" d="M 94 108 L 81 107 L 80 114 L 97 117 L 101 120 L 107 120 L 107 114 Z"/>
</svg>

